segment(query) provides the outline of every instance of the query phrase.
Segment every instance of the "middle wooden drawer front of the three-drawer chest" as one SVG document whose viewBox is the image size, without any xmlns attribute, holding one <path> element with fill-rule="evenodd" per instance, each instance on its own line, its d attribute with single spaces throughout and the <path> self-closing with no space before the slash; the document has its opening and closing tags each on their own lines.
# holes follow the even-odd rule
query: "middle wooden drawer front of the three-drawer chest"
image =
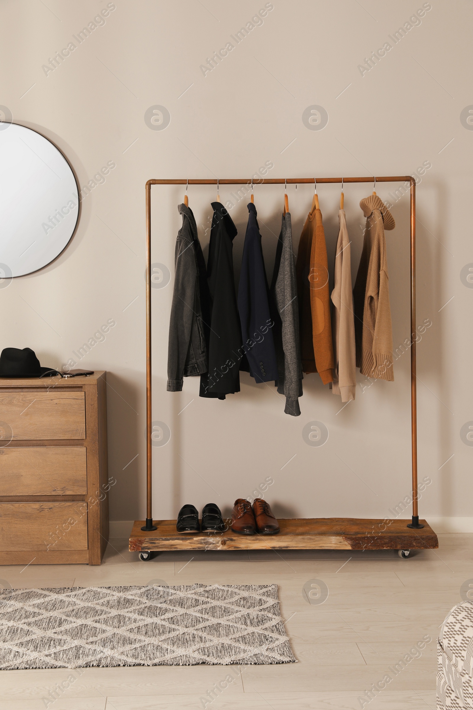
<svg viewBox="0 0 473 710">
<path fill-rule="evenodd" d="M 85 493 L 85 447 L 0 449 L 0 496 L 78 496 Z"/>
</svg>

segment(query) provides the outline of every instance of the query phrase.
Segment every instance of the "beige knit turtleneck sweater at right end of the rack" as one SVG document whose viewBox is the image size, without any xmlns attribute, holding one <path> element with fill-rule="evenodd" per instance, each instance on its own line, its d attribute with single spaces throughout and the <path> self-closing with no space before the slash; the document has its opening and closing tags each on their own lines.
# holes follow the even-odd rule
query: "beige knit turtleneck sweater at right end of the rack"
<svg viewBox="0 0 473 710">
<path fill-rule="evenodd" d="M 393 339 L 384 230 L 394 229 L 396 225 L 391 212 L 377 195 L 365 197 L 360 207 L 367 221 L 353 289 L 357 366 L 362 375 L 393 381 Z"/>
</svg>

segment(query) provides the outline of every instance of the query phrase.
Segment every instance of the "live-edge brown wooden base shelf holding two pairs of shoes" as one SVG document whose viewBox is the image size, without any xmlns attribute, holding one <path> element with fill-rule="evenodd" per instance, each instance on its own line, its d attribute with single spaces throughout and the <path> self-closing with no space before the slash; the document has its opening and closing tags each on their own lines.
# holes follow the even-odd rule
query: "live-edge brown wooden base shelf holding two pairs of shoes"
<svg viewBox="0 0 473 710">
<path fill-rule="evenodd" d="M 176 520 L 153 520 L 157 530 L 143 532 L 136 520 L 130 535 L 131 552 L 165 550 L 431 550 L 438 539 L 422 520 L 420 530 L 408 520 L 369 518 L 288 518 L 279 520 L 277 535 L 238 535 L 226 532 L 179 533 Z"/>
</svg>

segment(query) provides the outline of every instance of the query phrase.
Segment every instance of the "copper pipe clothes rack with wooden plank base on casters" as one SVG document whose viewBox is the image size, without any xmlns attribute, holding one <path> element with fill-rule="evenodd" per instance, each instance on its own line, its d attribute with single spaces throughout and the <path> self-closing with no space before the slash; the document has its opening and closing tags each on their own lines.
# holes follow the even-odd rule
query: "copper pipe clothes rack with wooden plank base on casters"
<svg viewBox="0 0 473 710">
<path fill-rule="evenodd" d="M 281 532 L 272 536 L 271 545 L 265 536 L 239 536 L 227 530 L 213 536 L 213 547 L 247 549 L 248 547 L 340 548 L 340 549 L 399 549 L 438 547 L 437 536 L 430 526 L 418 517 L 417 484 L 417 400 L 416 400 L 416 181 L 411 175 L 389 175 L 379 178 L 277 178 L 260 179 L 258 185 L 322 185 L 349 182 L 408 182 L 411 186 L 411 450 L 412 450 L 412 520 L 384 520 L 356 518 L 307 518 L 280 520 Z M 152 520 L 152 384 L 151 384 L 151 186 L 152 185 L 252 185 L 252 180 L 148 180 L 146 190 L 146 520 L 136 520 L 130 535 L 130 550 L 142 552 L 141 559 L 150 559 L 152 550 L 208 549 L 208 535 L 180 535 L 175 521 Z M 143 525 L 144 523 L 144 525 Z M 155 524 L 156 523 L 156 524 Z M 393 524 L 395 523 L 395 525 Z M 382 529 L 384 525 L 384 530 Z M 367 530 L 369 528 L 369 530 Z M 387 529 L 389 528 L 389 530 Z M 410 528 L 412 532 L 406 530 Z M 423 530 L 423 532 L 421 532 Z M 241 539 L 243 537 L 243 540 Z M 299 544 L 300 543 L 300 544 Z M 146 556 L 148 555 L 148 557 Z"/>
</svg>

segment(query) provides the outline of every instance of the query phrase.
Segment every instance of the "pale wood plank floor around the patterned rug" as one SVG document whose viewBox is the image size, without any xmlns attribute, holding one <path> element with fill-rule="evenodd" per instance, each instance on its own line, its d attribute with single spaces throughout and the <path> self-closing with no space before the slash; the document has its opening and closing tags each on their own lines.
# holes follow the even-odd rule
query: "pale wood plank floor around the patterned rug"
<svg viewBox="0 0 473 710">
<path fill-rule="evenodd" d="M 473 578 L 473 535 L 439 535 L 438 550 L 401 559 L 391 550 L 162 552 L 140 562 L 128 538 L 111 540 L 104 564 L 0 567 L 0 584 L 87 586 L 277 582 L 282 616 L 299 661 L 272 666 L 86 669 L 52 710 L 360 710 L 365 689 L 394 673 L 425 636 L 420 657 L 365 708 L 434 710 L 435 639 L 460 586 Z M 316 581 L 317 580 L 317 581 Z M 305 589 L 328 588 L 324 603 Z M 318 585 L 311 587 L 311 584 Z M 321 599 L 319 596 L 316 601 Z M 201 698 L 228 674 L 221 696 Z M 39 710 L 67 670 L 0 672 L 0 710 Z"/>
</svg>

